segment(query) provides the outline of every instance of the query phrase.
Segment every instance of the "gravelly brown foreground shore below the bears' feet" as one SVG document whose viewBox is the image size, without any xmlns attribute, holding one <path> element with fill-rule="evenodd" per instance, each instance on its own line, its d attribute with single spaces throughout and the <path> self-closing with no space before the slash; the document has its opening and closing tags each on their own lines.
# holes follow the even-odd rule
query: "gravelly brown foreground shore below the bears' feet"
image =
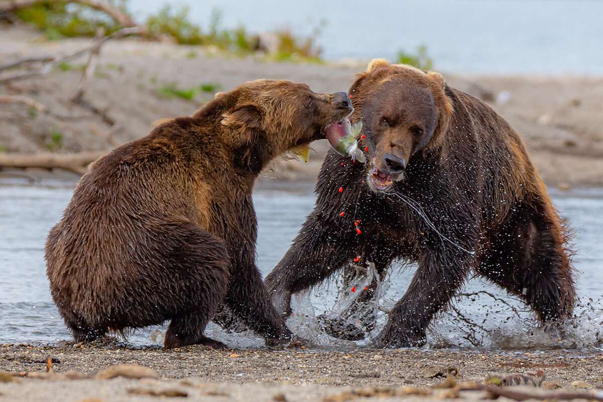
<svg viewBox="0 0 603 402">
<path fill-rule="evenodd" d="M 479 353 L 309 348 L 207 350 L 202 347 L 164 351 L 66 343 L 58 347 L 4 345 L 0 347 L 0 369 L 44 372 L 43 362 L 47 357 L 55 359 L 57 373 L 73 370 L 92 375 L 111 365 L 140 365 L 155 369 L 160 378 L 68 382 L 19 378 L 18 383 L 0 382 L 0 401 L 153 400 L 131 391 L 128 394 L 128 389 L 157 392 L 178 389 L 188 394 L 189 400 L 270 401 L 282 400 L 279 398 L 284 394 L 287 401 L 320 401 L 328 395 L 345 394 L 358 387 L 395 390 L 404 386 L 428 389 L 434 392 L 427 397 L 431 399 L 437 398 L 440 392 L 434 391 L 432 386 L 443 382 L 441 375 L 434 375 L 450 366 L 458 371 L 458 382 L 481 382 L 489 373 L 506 375 L 541 368 L 546 375 L 545 389 L 603 388 L 603 356 L 597 351 Z M 482 396 L 479 392 L 461 394 L 467 400 Z M 374 395 L 374 398 L 384 400 L 383 395 Z"/>
</svg>

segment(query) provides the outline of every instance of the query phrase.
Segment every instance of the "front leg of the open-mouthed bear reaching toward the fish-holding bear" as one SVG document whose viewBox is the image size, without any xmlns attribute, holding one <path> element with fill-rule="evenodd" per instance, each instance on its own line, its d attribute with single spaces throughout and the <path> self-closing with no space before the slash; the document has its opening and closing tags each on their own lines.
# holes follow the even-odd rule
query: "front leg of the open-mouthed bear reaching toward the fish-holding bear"
<svg viewBox="0 0 603 402">
<path fill-rule="evenodd" d="M 350 263 L 360 236 L 354 227 L 326 221 L 318 207 L 308 216 L 291 248 L 265 279 L 270 298 L 281 316 L 291 315 L 291 295 L 320 283 Z M 363 236 L 364 237 L 364 236 Z"/>
</svg>

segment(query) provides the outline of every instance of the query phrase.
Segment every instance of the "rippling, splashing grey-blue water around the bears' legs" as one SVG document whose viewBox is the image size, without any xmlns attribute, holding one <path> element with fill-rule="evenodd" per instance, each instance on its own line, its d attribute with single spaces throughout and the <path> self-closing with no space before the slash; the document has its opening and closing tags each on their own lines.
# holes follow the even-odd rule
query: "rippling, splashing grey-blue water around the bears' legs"
<svg viewBox="0 0 603 402">
<path fill-rule="evenodd" d="M 72 186 L 0 185 L 0 344 L 4 342 L 55 343 L 69 340 L 62 319 L 48 291 L 43 245 L 48 230 L 62 215 Z M 538 328 L 521 303 L 484 281 L 469 281 L 455 309 L 438 317 L 428 334 L 430 347 L 482 347 L 488 349 L 601 348 L 603 346 L 603 194 L 593 190 L 554 193 L 562 214 L 575 229 L 575 265 L 579 306 L 563 334 Z M 256 190 L 254 203 L 259 220 L 257 263 L 266 275 L 280 260 L 314 205 L 309 189 Z M 394 269 L 382 285 L 384 310 L 401 297 L 414 272 Z M 486 293 L 487 292 L 487 293 Z M 349 293 L 349 292 L 348 292 Z M 319 288 L 295 300 L 295 318 L 289 324 L 298 333 L 323 347 L 355 345 L 336 341 L 316 330 L 314 315 L 333 313 L 336 286 Z M 493 297 L 496 297 L 494 299 Z M 517 312 L 514 312 L 517 310 Z M 336 313 L 336 311 L 334 312 Z M 380 313 L 378 325 L 385 320 Z M 377 328 L 378 330 L 378 328 Z M 376 331 L 377 331 L 376 330 Z M 135 345 L 161 342 L 165 327 L 138 330 L 127 341 Z M 374 336 L 375 333 L 371 334 Z M 257 347 L 263 342 L 251 333 L 229 334 L 210 324 L 211 336 L 234 347 Z M 558 337 L 561 341 L 558 341 Z M 364 345 L 367 341 L 358 341 Z"/>
</svg>

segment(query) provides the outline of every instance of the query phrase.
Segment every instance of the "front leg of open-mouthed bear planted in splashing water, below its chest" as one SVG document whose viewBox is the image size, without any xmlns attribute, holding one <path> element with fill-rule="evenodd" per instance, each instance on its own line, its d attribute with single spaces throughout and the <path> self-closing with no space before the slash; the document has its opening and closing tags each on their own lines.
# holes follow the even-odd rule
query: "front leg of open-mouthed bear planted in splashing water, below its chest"
<svg viewBox="0 0 603 402">
<path fill-rule="evenodd" d="M 450 244 L 440 250 L 421 251 L 417 272 L 374 340 L 376 347 L 424 345 L 429 322 L 452 300 L 473 265 L 475 257 L 472 254 L 457 250 Z"/>
</svg>

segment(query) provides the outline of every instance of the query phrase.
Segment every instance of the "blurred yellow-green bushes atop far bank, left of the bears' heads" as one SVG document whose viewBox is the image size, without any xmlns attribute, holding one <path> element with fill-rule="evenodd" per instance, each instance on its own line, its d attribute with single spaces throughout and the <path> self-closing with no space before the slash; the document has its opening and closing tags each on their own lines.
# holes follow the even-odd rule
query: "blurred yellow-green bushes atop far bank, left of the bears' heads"
<svg viewBox="0 0 603 402">
<path fill-rule="evenodd" d="M 109 0 L 109 4 L 131 18 L 127 12 L 127 0 Z M 103 11 L 69 1 L 40 3 L 21 8 L 14 14 L 42 30 L 50 40 L 95 36 L 99 30 L 108 35 L 121 28 Z M 315 37 L 320 33 L 318 28 L 306 38 L 296 37 L 286 30 L 276 32 L 276 40 L 267 49 L 260 37 L 248 33 L 245 27 L 224 28 L 221 20 L 221 12 L 214 9 L 207 28 L 203 29 L 191 21 L 188 7 L 165 5 L 141 25 L 147 30 L 149 39 L 168 37 L 181 45 L 213 46 L 235 55 L 263 52 L 268 60 L 320 61 L 321 49 L 315 45 Z M 197 53 L 191 51 L 186 56 L 194 58 Z"/>
</svg>

